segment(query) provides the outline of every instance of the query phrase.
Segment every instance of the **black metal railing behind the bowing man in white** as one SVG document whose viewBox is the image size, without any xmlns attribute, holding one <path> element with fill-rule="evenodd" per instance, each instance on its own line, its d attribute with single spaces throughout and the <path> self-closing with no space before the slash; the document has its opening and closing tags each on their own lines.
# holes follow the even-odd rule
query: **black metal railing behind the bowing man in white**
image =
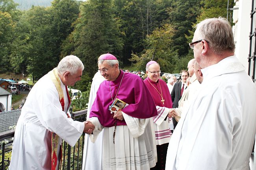
<svg viewBox="0 0 256 170">
<path fill-rule="evenodd" d="M 74 121 L 83 122 L 86 119 L 87 109 L 72 113 L 72 108 L 70 108 L 70 113 Z M 12 150 L 12 143 L 15 130 L 10 130 L 4 133 L 0 133 L 0 142 L 8 140 L 8 143 L 2 142 L 0 145 L 0 170 L 7 170 L 10 165 L 11 154 L 6 156 Z M 65 141 L 62 143 L 62 155 L 63 162 L 61 164 L 62 170 L 82 170 L 83 163 L 83 146 L 84 146 L 85 133 L 78 139 L 78 142 L 74 147 L 71 147 Z M 2 151 L 2 152 L 1 152 Z"/>
</svg>

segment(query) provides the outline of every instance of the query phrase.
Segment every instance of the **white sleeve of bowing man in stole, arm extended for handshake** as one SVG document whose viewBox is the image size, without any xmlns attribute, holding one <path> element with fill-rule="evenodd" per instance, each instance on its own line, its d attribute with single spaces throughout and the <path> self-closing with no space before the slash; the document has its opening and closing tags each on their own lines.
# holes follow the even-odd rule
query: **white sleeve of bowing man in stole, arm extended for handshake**
<svg viewBox="0 0 256 170">
<path fill-rule="evenodd" d="M 46 90 L 33 93 L 37 97 L 32 104 L 33 110 L 36 110 L 39 121 L 46 129 L 74 146 L 83 133 L 84 123 L 67 118 L 62 111 L 58 91 L 53 84 L 49 86 Z"/>
</svg>

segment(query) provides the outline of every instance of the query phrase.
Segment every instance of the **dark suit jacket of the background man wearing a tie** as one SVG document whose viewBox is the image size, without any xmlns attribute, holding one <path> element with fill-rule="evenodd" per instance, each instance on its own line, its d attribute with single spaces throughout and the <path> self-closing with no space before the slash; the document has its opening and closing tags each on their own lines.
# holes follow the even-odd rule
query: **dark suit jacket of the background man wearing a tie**
<svg viewBox="0 0 256 170">
<path fill-rule="evenodd" d="M 179 101 L 181 98 L 181 96 L 180 96 L 181 85 L 182 85 L 182 82 L 178 82 L 178 83 L 175 83 L 173 86 L 173 90 L 171 92 L 173 108 L 178 108 L 178 106 L 179 106 Z M 178 122 L 175 119 L 173 119 L 174 128 L 176 127 L 177 124 L 178 124 Z"/>
</svg>

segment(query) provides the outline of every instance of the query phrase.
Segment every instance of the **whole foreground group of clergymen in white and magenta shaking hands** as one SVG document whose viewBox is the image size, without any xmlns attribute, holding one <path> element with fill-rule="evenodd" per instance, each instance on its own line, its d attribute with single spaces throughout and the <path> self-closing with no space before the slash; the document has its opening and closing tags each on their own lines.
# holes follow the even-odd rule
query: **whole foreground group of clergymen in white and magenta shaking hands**
<svg viewBox="0 0 256 170">
<path fill-rule="evenodd" d="M 256 86 L 234 55 L 232 27 L 225 18 L 203 20 L 189 46 L 194 59 L 180 82 L 161 80 L 156 61 L 142 80 L 119 69 L 114 55 L 100 55 L 84 122 L 70 118 L 67 91 L 83 63 L 64 57 L 22 107 L 9 169 L 59 170 L 61 140 L 74 146 L 85 132 L 83 170 L 249 170 Z"/>
</svg>

